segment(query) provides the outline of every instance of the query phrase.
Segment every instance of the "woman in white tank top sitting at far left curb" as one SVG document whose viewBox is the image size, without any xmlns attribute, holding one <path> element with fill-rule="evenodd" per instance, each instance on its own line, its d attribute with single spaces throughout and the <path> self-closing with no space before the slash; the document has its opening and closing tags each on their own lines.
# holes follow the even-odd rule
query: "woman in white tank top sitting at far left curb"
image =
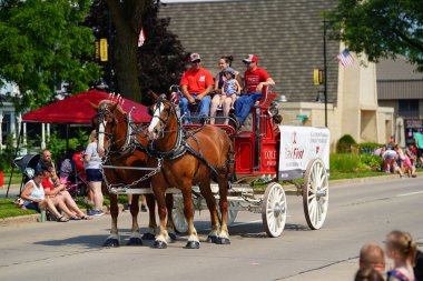
<svg viewBox="0 0 423 281">
<path fill-rule="evenodd" d="M 28 181 L 24 184 L 23 191 L 21 193 L 21 198 L 24 200 L 23 205 L 27 209 L 32 209 L 38 212 L 41 210 L 49 210 L 52 215 L 57 218 L 58 222 L 67 222 L 68 219 L 63 218 L 59 211 L 56 209 L 53 201 L 46 197 L 45 189 L 41 184 L 43 179 L 43 171 L 37 170 L 32 180 Z"/>
</svg>

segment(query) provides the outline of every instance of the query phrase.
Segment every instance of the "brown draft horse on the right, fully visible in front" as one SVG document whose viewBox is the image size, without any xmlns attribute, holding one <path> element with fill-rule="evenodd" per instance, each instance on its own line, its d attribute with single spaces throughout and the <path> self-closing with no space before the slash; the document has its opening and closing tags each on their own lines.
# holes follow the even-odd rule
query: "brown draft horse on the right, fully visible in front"
<svg viewBox="0 0 423 281">
<path fill-rule="evenodd" d="M 227 215 L 227 192 L 229 177 L 234 172 L 233 143 L 226 132 L 216 127 L 203 127 L 187 132 L 181 127 L 174 104 L 165 96 L 157 98 L 153 107 L 154 116 L 148 127 L 151 140 L 149 151 L 164 159 L 161 177 L 154 175 L 151 187 L 158 204 L 160 233 L 155 248 L 167 247 L 165 192 L 169 187 L 179 189 L 184 197 L 184 214 L 188 223 L 188 249 L 198 249 L 199 240 L 194 227 L 191 187 L 198 184 L 206 199 L 212 217 L 212 231 L 208 242 L 230 244 Z M 219 185 L 222 224 L 218 228 L 216 199 L 210 189 L 212 178 Z"/>
</svg>

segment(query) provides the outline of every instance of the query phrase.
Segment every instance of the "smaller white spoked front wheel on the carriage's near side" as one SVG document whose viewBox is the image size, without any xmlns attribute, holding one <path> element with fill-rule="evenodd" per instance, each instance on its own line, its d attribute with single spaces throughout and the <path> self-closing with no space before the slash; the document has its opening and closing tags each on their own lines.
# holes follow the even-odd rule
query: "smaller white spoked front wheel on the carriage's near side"
<svg viewBox="0 0 423 281">
<path fill-rule="evenodd" d="M 284 231 L 286 208 L 284 188 L 277 182 L 269 183 L 262 202 L 263 225 L 268 237 L 278 237 Z"/>
</svg>

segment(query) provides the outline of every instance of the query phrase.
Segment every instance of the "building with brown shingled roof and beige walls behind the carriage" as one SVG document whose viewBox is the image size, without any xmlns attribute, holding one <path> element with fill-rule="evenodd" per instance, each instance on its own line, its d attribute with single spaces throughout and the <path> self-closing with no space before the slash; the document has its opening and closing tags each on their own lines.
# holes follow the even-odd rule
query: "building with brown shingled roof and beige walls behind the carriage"
<svg viewBox="0 0 423 281">
<path fill-rule="evenodd" d="M 258 66 L 276 82 L 274 91 L 287 99 L 279 104 L 284 124 L 327 123 L 333 147 L 346 133 L 357 142 L 382 143 L 394 130 L 393 109 L 377 104 L 374 63 L 355 56 L 355 63 L 344 68 L 337 61 L 344 46 L 324 40 L 322 12 L 336 4 L 336 0 L 173 1 L 160 9 L 160 17 L 171 18 L 170 30 L 185 51 L 200 53 L 213 73 L 224 54 L 234 56 L 233 67 L 240 72 L 242 59 L 256 54 Z M 313 70 L 325 67 L 324 49 L 326 104 L 324 87 L 313 81 Z"/>
</svg>

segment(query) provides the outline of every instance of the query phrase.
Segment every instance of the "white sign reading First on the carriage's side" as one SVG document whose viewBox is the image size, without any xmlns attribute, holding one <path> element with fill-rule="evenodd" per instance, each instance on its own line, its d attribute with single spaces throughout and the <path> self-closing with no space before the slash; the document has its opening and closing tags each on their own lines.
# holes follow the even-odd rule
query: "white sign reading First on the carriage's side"
<svg viewBox="0 0 423 281">
<path fill-rule="evenodd" d="M 326 128 L 279 126 L 279 180 L 303 178 L 307 164 L 322 159 L 329 170 L 329 130 Z"/>
</svg>

